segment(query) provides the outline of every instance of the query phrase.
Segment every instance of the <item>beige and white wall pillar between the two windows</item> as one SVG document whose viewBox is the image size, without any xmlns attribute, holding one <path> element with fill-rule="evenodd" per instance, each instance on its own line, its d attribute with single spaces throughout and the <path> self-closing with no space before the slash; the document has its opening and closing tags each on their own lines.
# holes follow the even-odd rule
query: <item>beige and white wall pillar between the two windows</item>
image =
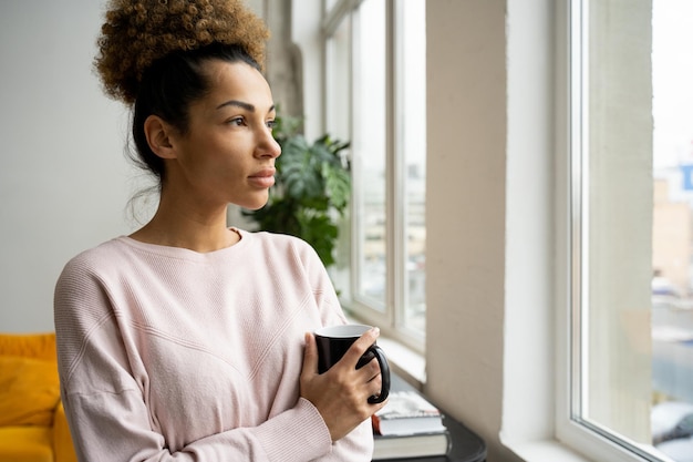
<svg viewBox="0 0 693 462">
<path fill-rule="evenodd" d="M 425 391 L 497 462 L 554 439 L 552 3 L 426 7 Z"/>
</svg>

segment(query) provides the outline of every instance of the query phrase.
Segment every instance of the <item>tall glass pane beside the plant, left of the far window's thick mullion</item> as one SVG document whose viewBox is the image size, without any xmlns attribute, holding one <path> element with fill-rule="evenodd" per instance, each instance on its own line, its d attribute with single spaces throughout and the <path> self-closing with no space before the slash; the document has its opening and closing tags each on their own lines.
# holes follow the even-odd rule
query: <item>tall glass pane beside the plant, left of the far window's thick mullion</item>
<svg viewBox="0 0 693 462">
<path fill-rule="evenodd" d="M 354 40 L 354 217 L 358 227 L 356 292 L 385 310 L 385 2 L 366 0 Z"/>
</svg>

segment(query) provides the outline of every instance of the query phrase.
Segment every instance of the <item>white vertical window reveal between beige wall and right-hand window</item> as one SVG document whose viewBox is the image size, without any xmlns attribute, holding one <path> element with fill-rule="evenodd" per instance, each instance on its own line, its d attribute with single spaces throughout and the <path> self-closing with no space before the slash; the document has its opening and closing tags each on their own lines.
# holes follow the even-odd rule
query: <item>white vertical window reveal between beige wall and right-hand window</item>
<svg viewBox="0 0 693 462">
<path fill-rule="evenodd" d="M 506 443 L 554 437 L 555 4 L 507 2 Z"/>
</svg>

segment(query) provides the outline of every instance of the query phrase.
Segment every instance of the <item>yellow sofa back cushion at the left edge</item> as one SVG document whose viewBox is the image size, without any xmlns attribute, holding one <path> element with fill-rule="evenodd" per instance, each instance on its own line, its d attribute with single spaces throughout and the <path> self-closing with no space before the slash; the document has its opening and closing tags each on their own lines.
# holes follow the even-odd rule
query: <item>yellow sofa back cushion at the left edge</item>
<svg viewBox="0 0 693 462">
<path fill-rule="evenodd" d="M 0 357 L 0 427 L 46 425 L 60 400 L 54 361 Z"/>
</svg>

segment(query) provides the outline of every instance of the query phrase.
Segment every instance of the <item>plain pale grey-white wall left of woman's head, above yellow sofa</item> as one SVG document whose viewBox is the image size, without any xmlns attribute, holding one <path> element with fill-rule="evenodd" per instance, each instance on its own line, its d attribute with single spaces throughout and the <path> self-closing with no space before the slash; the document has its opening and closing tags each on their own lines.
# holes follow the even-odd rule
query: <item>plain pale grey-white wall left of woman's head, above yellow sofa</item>
<svg viewBox="0 0 693 462">
<path fill-rule="evenodd" d="M 94 0 L 0 2 L 0 331 L 53 330 L 77 251 L 126 233 L 127 113 L 92 73 Z"/>
</svg>

